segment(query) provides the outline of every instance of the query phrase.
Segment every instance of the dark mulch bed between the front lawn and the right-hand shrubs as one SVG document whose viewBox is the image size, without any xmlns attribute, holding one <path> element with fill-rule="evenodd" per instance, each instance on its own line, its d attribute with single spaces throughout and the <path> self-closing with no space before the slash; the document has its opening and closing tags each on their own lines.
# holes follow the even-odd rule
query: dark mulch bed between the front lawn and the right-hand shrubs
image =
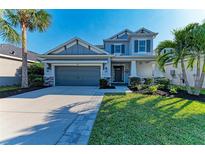
<svg viewBox="0 0 205 154">
<path fill-rule="evenodd" d="M 148 89 L 138 90 L 138 91 L 134 91 L 134 92 L 141 93 L 141 94 L 147 94 L 147 95 L 153 95 L 152 93 L 149 92 Z M 184 98 L 184 99 L 188 99 L 188 100 L 196 100 L 196 101 L 205 102 L 205 94 L 200 94 L 199 96 L 196 96 L 196 95 L 188 94 L 187 91 L 185 91 L 185 90 L 178 90 L 177 94 L 171 94 L 167 90 L 163 90 L 163 91 L 158 90 L 156 92 L 156 95 L 167 96 L 167 97 L 178 97 L 178 98 Z"/>
</svg>

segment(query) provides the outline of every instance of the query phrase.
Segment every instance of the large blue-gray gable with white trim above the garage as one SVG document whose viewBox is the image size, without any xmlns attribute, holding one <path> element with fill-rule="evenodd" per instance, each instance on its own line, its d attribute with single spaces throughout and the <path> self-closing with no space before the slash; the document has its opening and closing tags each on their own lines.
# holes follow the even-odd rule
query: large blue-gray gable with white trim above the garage
<svg viewBox="0 0 205 154">
<path fill-rule="evenodd" d="M 106 51 L 82 39 L 74 38 L 47 52 L 49 55 L 107 55 Z"/>
</svg>

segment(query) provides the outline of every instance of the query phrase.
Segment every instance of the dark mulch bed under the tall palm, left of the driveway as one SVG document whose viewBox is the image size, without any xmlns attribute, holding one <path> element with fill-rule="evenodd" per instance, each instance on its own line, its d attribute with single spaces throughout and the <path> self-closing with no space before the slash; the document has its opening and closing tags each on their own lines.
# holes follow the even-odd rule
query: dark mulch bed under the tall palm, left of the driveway
<svg viewBox="0 0 205 154">
<path fill-rule="evenodd" d="M 18 94 L 22 94 L 25 92 L 34 91 L 34 90 L 38 90 L 38 89 L 42 89 L 42 88 L 46 88 L 46 87 L 29 87 L 29 88 L 22 88 L 22 89 L 16 89 L 16 90 L 2 91 L 2 92 L 0 92 L 0 98 L 18 95 Z"/>
</svg>

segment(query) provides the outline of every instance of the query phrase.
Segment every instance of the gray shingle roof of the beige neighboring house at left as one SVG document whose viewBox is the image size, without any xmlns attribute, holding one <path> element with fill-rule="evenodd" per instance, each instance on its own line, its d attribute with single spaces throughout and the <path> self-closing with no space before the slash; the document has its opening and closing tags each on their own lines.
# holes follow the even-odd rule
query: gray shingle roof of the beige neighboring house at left
<svg viewBox="0 0 205 154">
<path fill-rule="evenodd" d="M 22 58 L 21 48 L 11 44 L 0 44 L 0 54 Z M 28 51 L 28 60 L 37 61 L 37 54 L 32 51 Z"/>
</svg>

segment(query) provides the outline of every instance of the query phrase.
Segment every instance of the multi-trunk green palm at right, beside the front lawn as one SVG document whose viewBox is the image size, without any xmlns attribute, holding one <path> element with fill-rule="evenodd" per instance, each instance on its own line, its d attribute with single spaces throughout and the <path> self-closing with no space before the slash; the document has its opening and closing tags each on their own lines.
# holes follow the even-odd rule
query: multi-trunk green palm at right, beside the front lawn
<svg viewBox="0 0 205 154">
<path fill-rule="evenodd" d="M 199 90 L 194 92 L 189 86 L 185 60 L 188 60 L 187 68 L 193 68 L 194 62 L 197 61 L 195 87 L 200 89 L 199 87 L 202 87 L 205 76 L 205 63 L 203 65 L 204 72 L 202 71 L 200 76 L 201 54 L 204 53 L 202 51 L 205 51 L 205 26 L 199 29 L 198 23 L 191 23 L 183 29 L 174 30 L 173 34 L 174 41 L 163 41 L 158 45 L 157 62 L 163 71 L 167 62 L 172 61 L 175 67 L 177 67 L 178 63 L 180 62 L 182 77 L 184 79 L 188 93 L 199 94 Z M 169 50 L 167 53 L 161 53 L 161 51 L 165 48 L 172 48 L 173 50 Z"/>
</svg>

